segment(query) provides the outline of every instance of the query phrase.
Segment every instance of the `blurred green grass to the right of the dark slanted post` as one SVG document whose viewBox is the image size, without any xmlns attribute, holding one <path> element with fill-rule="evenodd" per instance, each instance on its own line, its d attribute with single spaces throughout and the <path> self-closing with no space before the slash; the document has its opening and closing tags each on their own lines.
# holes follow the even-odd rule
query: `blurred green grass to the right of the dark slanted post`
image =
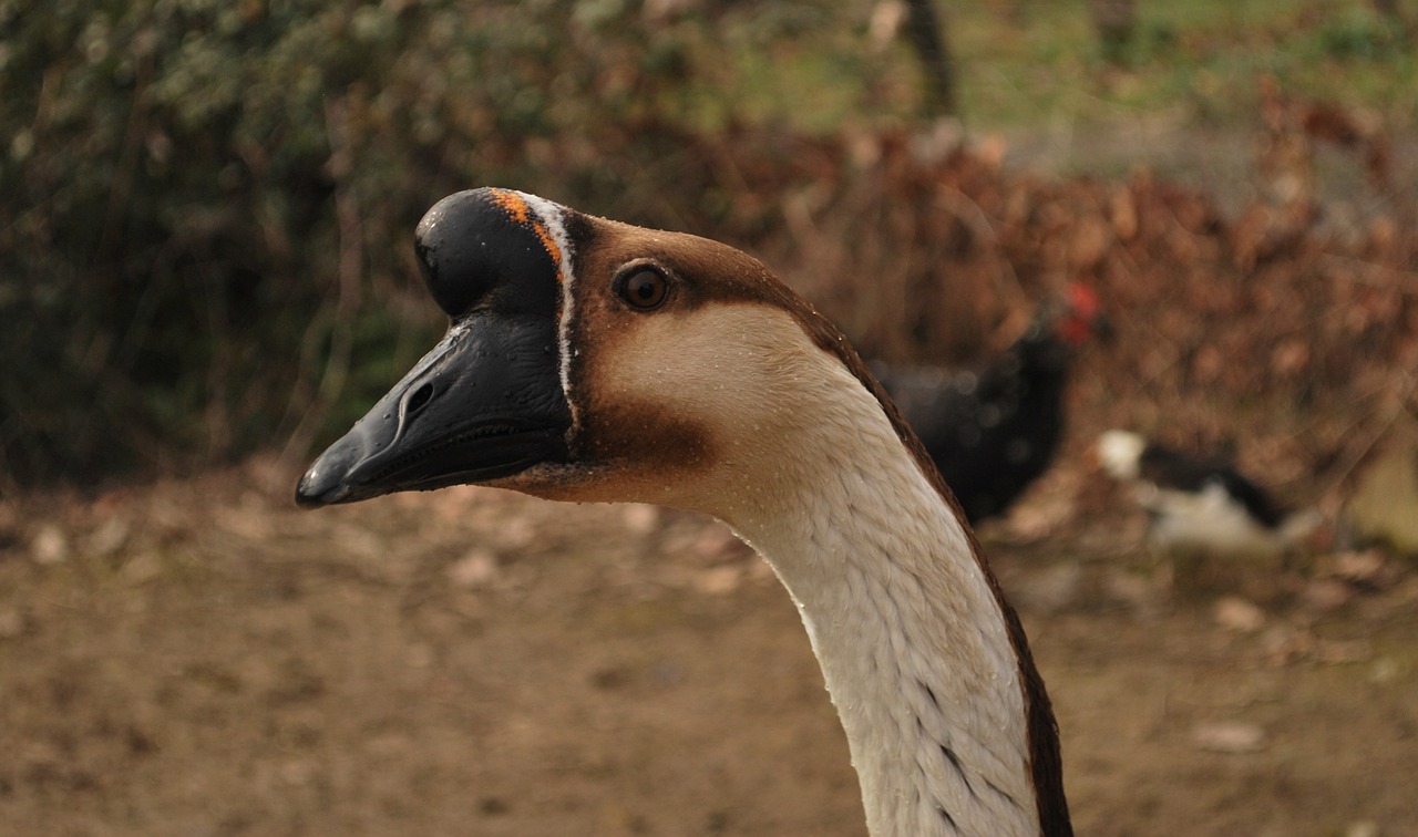
<svg viewBox="0 0 1418 837">
<path fill-rule="evenodd" d="M 1115 68 L 1082 0 L 1018 8 L 1011 20 L 991 4 L 954 7 L 963 109 L 974 126 L 1178 113 L 1246 125 L 1263 74 L 1295 95 L 1371 106 L 1395 126 L 1411 126 L 1418 108 L 1411 35 L 1367 0 L 1139 3 L 1137 31 Z"/>
</svg>

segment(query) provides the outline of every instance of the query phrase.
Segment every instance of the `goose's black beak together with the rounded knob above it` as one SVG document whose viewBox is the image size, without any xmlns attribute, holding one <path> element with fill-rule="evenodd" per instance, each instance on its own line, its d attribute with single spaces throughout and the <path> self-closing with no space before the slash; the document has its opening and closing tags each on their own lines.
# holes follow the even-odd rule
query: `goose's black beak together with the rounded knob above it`
<svg viewBox="0 0 1418 837">
<path fill-rule="evenodd" d="M 566 207 L 493 188 L 428 210 L 414 248 L 448 334 L 315 460 L 296 503 L 484 483 L 566 462 L 557 241 L 567 241 L 569 222 L 576 214 Z"/>
</svg>

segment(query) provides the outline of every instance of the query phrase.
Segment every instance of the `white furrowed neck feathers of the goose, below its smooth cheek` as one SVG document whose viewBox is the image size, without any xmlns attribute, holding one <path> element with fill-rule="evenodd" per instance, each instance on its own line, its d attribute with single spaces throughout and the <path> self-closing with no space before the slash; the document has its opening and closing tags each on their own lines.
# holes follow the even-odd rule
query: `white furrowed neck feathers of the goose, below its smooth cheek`
<svg viewBox="0 0 1418 837">
<path fill-rule="evenodd" d="M 793 503 L 736 528 L 798 605 L 871 833 L 1037 834 L 1004 616 L 960 523 L 861 395 L 781 463 Z"/>
</svg>

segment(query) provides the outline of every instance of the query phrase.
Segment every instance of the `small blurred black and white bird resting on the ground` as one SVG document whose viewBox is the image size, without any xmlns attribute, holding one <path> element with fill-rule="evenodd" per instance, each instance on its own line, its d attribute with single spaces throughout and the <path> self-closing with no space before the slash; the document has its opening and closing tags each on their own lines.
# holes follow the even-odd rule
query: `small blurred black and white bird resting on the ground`
<svg viewBox="0 0 1418 837">
<path fill-rule="evenodd" d="M 1320 523 L 1312 510 L 1282 510 L 1225 456 L 1173 450 L 1130 431 L 1102 433 L 1095 452 L 1109 476 L 1132 486 L 1150 517 L 1149 541 L 1163 552 L 1278 555 Z"/>
</svg>

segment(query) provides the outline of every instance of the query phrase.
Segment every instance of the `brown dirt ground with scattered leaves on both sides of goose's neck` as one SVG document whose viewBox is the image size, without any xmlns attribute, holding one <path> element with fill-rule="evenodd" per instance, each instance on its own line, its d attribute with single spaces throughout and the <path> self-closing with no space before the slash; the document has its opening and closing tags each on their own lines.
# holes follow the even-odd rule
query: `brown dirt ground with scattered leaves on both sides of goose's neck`
<svg viewBox="0 0 1418 837">
<path fill-rule="evenodd" d="M 0 504 L 0 833 L 864 834 L 787 595 L 718 524 L 271 463 Z M 1081 834 L 1418 834 L 1418 574 L 1171 566 L 1055 479 L 984 531 Z"/>
</svg>

